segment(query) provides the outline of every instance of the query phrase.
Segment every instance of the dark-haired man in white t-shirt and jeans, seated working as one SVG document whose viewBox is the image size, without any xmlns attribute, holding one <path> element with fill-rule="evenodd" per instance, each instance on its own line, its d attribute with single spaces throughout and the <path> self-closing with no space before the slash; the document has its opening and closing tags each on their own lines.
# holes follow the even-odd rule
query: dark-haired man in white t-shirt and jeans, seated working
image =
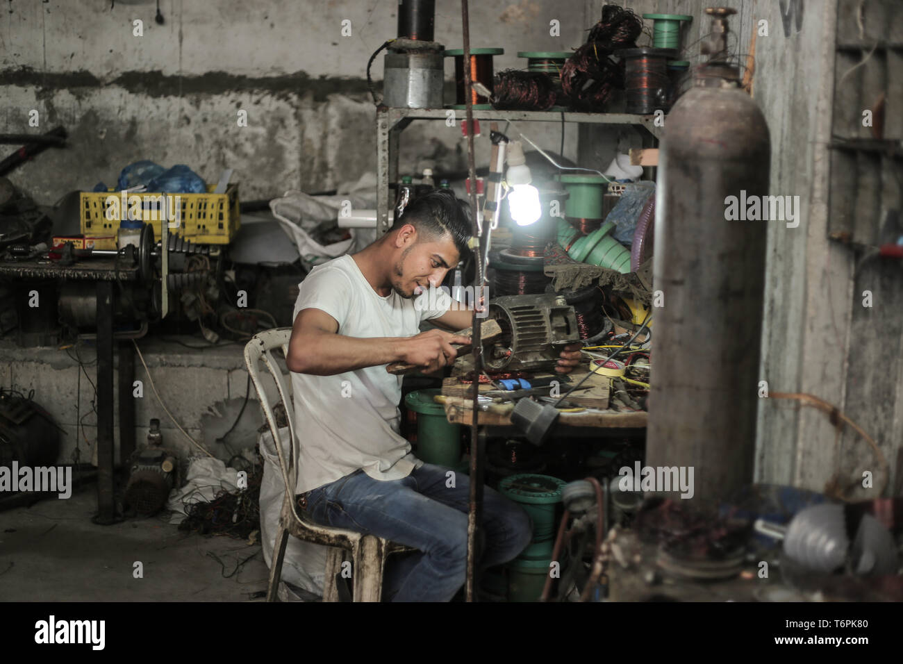
<svg viewBox="0 0 903 664">
<path fill-rule="evenodd" d="M 469 341 L 420 332 L 427 319 L 470 327 L 471 313 L 428 310 L 416 299 L 470 254 L 469 218 L 452 192 L 424 194 L 367 248 L 314 267 L 294 307 L 287 364 L 300 445 L 296 491 L 316 523 L 418 550 L 386 567 L 384 597 L 393 601 L 449 601 L 465 580 L 469 478 L 459 472 L 450 482 L 449 469 L 411 453 L 398 433 L 402 377 L 386 365 L 436 371 L 454 360 L 452 343 Z M 571 371 L 577 349 L 563 351 L 556 369 Z M 489 487 L 483 496 L 481 568 L 517 556 L 532 529 L 516 503 Z"/>
</svg>

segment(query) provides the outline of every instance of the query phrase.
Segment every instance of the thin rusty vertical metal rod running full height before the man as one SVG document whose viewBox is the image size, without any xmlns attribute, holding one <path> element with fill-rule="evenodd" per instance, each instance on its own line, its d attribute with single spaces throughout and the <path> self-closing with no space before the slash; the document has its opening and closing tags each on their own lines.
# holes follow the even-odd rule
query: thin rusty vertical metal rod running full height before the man
<svg viewBox="0 0 903 664">
<path fill-rule="evenodd" d="M 468 13 L 468 5 L 467 0 L 461 0 L 461 32 L 463 37 L 463 46 L 464 46 L 464 61 L 470 62 L 470 16 Z M 480 333 L 479 333 L 479 320 L 477 318 L 477 314 L 479 313 L 479 305 L 477 305 L 477 298 L 481 292 L 480 283 L 483 279 L 483 270 L 480 269 L 479 261 L 482 260 L 482 250 L 481 244 L 482 238 L 479 238 L 479 210 L 477 208 L 477 167 L 474 159 L 474 150 L 473 150 L 473 95 L 470 94 L 470 67 L 464 68 L 464 89 L 467 90 L 468 94 L 464 96 L 464 103 L 466 104 L 466 119 L 467 123 L 467 166 L 468 166 L 468 174 L 470 176 L 470 211 L 473 219 L 473 236 L 478 238 L 478 245 L 476 247 L 476 255 L 478 261 L 477 267 L 477 276 L 474 279 L 474 307 L 473 307 L 473 320 L 471 322 L 471 327 L 473 329 L 473 335 L 471 339 L 473 340 L 473 371 L 474 376 L 479 377 L 480 372 L 480 355 L 482 352 L 483 344 L 480 341 Z M 485 231 L 489 231 L 489 224 L 483 224 L 483 229 Z M 479 424 L 478 424 L 478 413 L 479 413 L 479 380 L 474 379 L 472 385 L 472 397 L 473 397 L 473 408 L 471 409 L 472 420 L 470 422 L 470 496 L 469 496 L 469 510 L 467 515 L 467 581 L 464 586 L 464 593 L 466 596 L 466 600 L 468 602 L 473 602 L 476 599 L 476 585 L 477 585 L 477 542 L 479 541 L 479 522 L 482 519 L 482 508 L 483 508 L 483 486 L 482 486 L 482 463 L 480 463 L 480 445 L 479 445 Z"/>
</svg>

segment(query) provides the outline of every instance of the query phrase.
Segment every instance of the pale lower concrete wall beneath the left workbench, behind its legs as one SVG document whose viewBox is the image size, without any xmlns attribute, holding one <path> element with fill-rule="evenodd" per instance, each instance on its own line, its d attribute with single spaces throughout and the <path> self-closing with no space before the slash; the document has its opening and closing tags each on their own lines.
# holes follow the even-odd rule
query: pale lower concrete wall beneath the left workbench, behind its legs
<svg viewBox="0 0 903 664">
<path fill-rule="evenodd" d="M 186 337 L 190 345 L 200 345 Z M 204 445 L 211 454 L 228 463 L 232 454 L 257 442 L 256 429 L 264 424 L 254 386 L 247 391 L 247 369 L 243 344 L 190 350 L 174 341 L 144 339 L 138 341 L 160 399 L 154 396 L 148 371 L 135 356 L 135 380 L 140 380 L 143 396 L 135 398 L 135 446 L 147 439 L 151 418 L 160 420 L 163 444 L 180 454 L 204 455 L 172 423 L 172 413 L 188 435 Z M 118 368 L 118 358 L 116 368 Z M 83 369 L 79 369 L 79 360 Z M 0 385 L 23 394 L 34 390 L 34 400 L 46 409 L 65 434 L 61 434 L 60 461 L 74 463 L 79 450 L 81 463 L 89 463 L 96 454 L 98 419 L 92 409 L 96 399 L 97 353 L 93 342 L 81 342 L 68 349 L 29 348 L 13 341 L 0 341 Z M 267 397 L 275 401 L 272 379 L 265 381 Z M 114 373 L 114 398 L 118 394 L 118 374 Z M 241 407 L 248 394 L 244 412 Z M 241 412 L 241 418 L 237 419 Z M 217 443 L 237 421 L 226 444 Z M 80 422 L 80 426 L 79 426 Z M 116 463 L 119 462 L 119 412 L 114 410 Z M 95 457 L 96 458 L 96 457 Z"/>
</svg>

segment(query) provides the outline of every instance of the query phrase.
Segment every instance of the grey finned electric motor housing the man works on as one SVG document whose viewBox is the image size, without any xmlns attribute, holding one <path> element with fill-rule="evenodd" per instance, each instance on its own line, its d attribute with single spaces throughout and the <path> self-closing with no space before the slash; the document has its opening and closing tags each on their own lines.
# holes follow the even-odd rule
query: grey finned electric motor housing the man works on
<svg viewBox="0 0 903 664">
<path fill-rule="evenodd" d="M 573 306 L 558 295 L 506 295 L 489 302 L 502 334 L 484 357 L 487 371 L 543 371 L 564 346 L 580 341 Z"/>
</svg>

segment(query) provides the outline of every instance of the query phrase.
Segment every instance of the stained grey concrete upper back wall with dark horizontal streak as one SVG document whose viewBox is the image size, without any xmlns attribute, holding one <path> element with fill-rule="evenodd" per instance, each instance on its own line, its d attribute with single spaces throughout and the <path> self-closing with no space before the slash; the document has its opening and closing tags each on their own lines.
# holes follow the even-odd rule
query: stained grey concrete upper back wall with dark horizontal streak
<svg viewBox="0 0 903 664">
<path fill-rule="evenodd" d="M 23 0 L 0 13 L 0 130 L 70 132 L 67 150 L 12 173 L 36 200 L 51 204 L 70 190 L 113 184 L 138 159 L 189 164 L 212 181 L 235 168 L 244 200 L 328 190 L 376 171 L 365 71 L 370 54 L 396 36 L 395 2 L 163 0 L 162 25 L 154 0 L 110 5 Z M 436 40 L 460 48 L 460 5 L 438 5 Z M 553 19 L 560 36 L 550 36 Z M 133 34 L 135 20 L 144 36 Z M 342 36 L 346 20 L 350 35 Z M 578 46 L 583 29 L 582 0 L 470 7 L 471 47 L 505 48 L 497 70 L 524 66 L 517 51 Z M 382 56 L 373 65 L 377 81 Z M 452 61 L 445 69 L 451 80 Z M 33 109 L 40 127 L 28 125 Z M 247 111 L 246 127 L 237 126 L 238 110 Z M 557 150 L 558 126 L 534 133 Z M 565 152 L 574 156 L 576 144 L 572 132 Z M 403 146 L 403 172 L 436 161 L 466 170 L 460 127 L 414 123 Z"/>
</svg>

